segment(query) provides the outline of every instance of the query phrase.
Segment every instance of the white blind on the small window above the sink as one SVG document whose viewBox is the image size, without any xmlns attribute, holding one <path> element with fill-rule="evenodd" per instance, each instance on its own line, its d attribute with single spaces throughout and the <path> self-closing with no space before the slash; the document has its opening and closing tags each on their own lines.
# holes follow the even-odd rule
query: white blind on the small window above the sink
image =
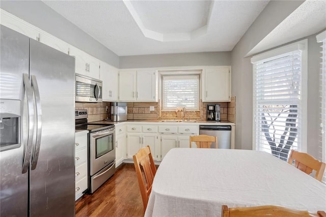
<svg viewBox="0 0 326 217">
<path fill-rule="evenodd" d="M 163 75 L 162 110 L 199 110 L 199 75 Z"/>
</svg>

